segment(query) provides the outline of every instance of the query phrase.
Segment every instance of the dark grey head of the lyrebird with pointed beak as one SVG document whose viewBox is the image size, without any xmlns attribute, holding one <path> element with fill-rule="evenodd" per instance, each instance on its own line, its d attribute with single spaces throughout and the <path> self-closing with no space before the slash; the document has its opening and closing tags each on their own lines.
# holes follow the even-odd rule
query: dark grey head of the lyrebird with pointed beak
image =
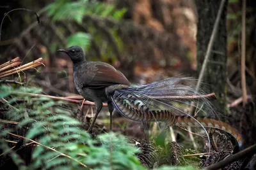
<svg viewBox="0 0 256 170">
<path fill-rule="evenodd" d="M 65 49 L 60 49 L 58 52 L 67 53 L 73 63 L 85 60 L 83 49 L 80 46 L 70 46 Z"/>
</svg>

